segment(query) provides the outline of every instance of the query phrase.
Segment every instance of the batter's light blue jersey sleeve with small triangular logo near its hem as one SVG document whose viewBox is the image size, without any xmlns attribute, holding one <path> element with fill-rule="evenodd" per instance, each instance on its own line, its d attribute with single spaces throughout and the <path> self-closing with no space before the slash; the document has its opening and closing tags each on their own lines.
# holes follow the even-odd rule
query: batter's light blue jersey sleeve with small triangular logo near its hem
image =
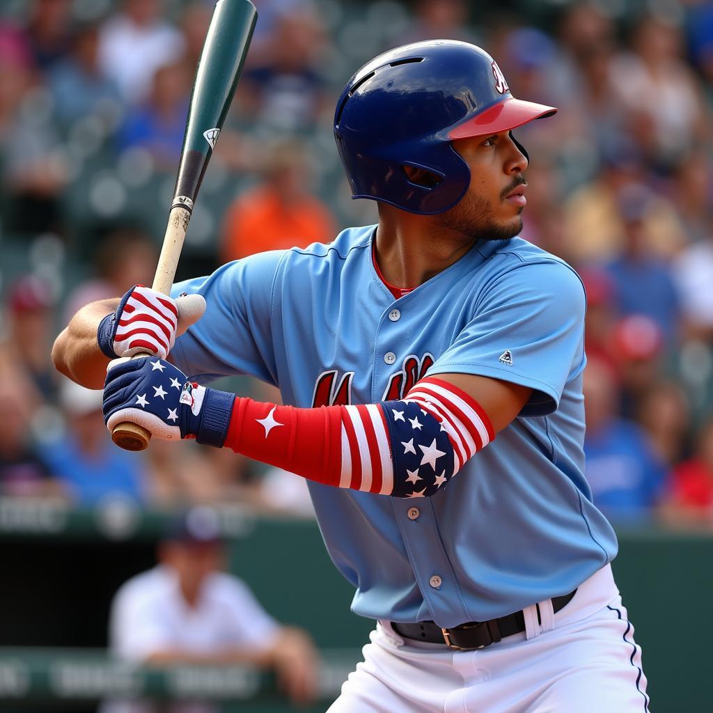
<svg viewBox="0 0 713 713">
<path fill-rule="evenodd" d="M 585 364 L 585 308 L 583 284 L 568 265 L 521 262 L 483 290 L 471 321 L 429 376 L 476 374 L 529 386 L 533 395 L 520 416 L 551 414 Z"/>
</svg>

